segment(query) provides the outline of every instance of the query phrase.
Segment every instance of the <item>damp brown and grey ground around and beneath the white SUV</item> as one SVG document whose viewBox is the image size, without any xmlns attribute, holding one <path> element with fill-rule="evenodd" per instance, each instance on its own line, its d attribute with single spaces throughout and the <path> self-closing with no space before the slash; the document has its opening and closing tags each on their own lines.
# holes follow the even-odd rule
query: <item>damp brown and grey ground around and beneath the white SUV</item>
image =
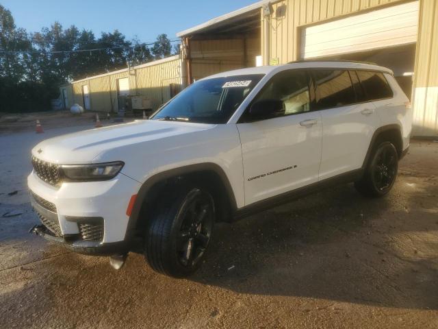
<svg viewBox="0 0 438 329">
<path fill-rule="evenodd" d="M 218 224 L 177 280 L 27 233 L 36 136 L 0 136 L 0 328 L 438 328 L 438 143 L 413 141 L 383 199 L 348 184 Z"/>
</svg>

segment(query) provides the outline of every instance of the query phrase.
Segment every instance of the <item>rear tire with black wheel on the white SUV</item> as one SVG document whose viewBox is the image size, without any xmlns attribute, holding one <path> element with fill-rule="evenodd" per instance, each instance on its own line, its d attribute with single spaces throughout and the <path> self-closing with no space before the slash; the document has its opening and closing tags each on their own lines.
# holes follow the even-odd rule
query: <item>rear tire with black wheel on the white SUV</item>
<svg viewBox="0 0 438 329">
<path fill-rule="evenodd" d="M 367 197 L 383 197 L 394 186 L 397 171 L 396 147 L 390 142 L 381 143 L 373 150 L 363 178 L 355 182 L 355 188 Z"/>
</svg>

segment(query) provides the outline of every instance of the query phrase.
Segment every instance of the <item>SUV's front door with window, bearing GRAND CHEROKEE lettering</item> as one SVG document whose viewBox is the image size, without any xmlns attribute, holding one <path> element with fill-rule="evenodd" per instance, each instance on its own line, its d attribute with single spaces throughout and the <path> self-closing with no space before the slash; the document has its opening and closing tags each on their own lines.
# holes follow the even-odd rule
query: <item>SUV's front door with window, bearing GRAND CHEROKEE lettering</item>
<svg viewBox="0 0 438 329">
<path fill-rule="evenodd" d="M 283 114 L 237 123 L 242 143 L 245 204 L 318 182 L 322 125 L 311 112 L 313 85 L 307 71 L 281 71 L 255 97 L 281 99 Z"/>
</svg>

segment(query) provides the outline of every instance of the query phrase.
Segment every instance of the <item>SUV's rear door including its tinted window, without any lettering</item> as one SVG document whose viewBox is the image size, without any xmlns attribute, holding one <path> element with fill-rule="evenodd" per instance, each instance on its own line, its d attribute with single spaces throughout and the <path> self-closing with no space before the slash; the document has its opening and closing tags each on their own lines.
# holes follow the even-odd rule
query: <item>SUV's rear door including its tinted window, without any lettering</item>
<svg viewBox="0 0 438 329">
<path fill-rule="evenodd" d="M 313 71 L 315 109 L 322 118 L 320 180 L 362 167 L 380 119 L 355 71 Z"/>
</svg>

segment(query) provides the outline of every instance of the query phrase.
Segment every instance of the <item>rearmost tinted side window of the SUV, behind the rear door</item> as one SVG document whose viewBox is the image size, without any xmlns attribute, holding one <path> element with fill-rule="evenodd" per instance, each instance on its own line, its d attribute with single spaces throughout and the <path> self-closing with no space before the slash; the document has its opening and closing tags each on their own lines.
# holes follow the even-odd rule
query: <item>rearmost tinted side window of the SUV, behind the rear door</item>
<svg viewBox="0 0 438 329">
<path fill-rule="evenodd" d="M 385 99 L 394 96 L 385 76 L 381 72 L 357 71 L 366 99 Z"/>
</svg>

